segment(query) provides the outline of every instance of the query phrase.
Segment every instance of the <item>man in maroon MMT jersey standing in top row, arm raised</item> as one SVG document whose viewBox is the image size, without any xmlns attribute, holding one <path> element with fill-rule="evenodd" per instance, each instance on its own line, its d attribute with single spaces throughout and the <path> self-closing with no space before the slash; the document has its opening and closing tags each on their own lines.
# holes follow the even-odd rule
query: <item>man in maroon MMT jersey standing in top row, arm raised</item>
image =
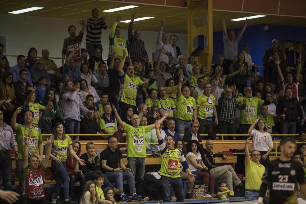
<svg viewBox="0 0 306 204">
<path fill-rule="evenodd" d="M 72 59 L 74 60 L 76 69 L 80 69 L 81 67 L 81 42 L 83 39 L 83 35 L 86 29 L 87 20 L 84 17 L 83 20 L 83 27 L 80 30 L 80 33 L 78 36 L 76 36 L 76 27 L 74 25 L 71 25 L 68 27 L 69 37 L 64 39 L 64 45 L 62 49 L 62 65 L 64 66 L 64 60 L 65 57 L 68 56 L 71 52 L 74 51 L 74 48 L 79 47 L 80 49 L 78 52 L 75 52 L 72 56 Z"/>
</svg>

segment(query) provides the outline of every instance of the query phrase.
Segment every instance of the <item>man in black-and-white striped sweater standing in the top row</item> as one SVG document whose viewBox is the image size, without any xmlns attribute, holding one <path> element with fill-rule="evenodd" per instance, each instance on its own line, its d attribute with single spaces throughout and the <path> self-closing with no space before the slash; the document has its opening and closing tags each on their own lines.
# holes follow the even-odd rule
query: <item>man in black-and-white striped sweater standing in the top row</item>
<svg viewBox="0 0 306 204">
<path fill-rule="evenodd" d="M 92 57 L 95 52 L 95 48 L 99 48 L 101 50 L 102 55 L 102 44 L 101 44 L 101 33 L 103 30 L 107 30 L 107 24 L 105 22 L 105 16 L 99 18 L 99 10 L 92 9 L 91 10 L 92 17 L 87 19 L 86 29 L 86 49 L 88 52 L 88 56 Z"/>
</svg>

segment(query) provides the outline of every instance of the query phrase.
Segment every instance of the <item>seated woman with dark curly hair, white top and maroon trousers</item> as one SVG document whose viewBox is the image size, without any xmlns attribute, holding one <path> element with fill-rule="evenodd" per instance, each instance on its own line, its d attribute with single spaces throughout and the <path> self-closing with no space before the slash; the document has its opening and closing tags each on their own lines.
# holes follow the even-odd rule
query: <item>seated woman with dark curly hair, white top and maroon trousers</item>
<svg viewBox="0 0 306 204">
<path fill-rule="evenodd" d="M 213 198 L 215 188 L 215 176 L 210 174 L 207 166 L 202 161 L 202 156 L 198 150 L 200 143 L 197 140 L 190 140 L 187 145 L 186 161 L 190 171 L 202 180 L 203 184 L 207 186 L 209 194 L 204 195 L 204 198 Z"/>
</svg>

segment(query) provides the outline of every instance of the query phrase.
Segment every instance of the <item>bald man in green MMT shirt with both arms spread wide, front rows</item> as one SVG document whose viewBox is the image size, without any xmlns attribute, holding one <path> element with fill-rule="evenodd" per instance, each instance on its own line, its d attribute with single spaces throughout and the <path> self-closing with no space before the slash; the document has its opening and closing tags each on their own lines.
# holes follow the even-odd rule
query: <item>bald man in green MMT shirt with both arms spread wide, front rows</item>
<svg viewBox="0 0 306 204">
<path fill-rule="evenodd" d="M 119 127 L 123 128 L 126 132 L 126 138 L 128 140 L 128 166 L 133 172 L 133 175 L 135 175 L 136 193 L 140 196 L 144 187 L 145 158 L 147 157 L 145 134 L 154 129 L 155 124 L 140 126 L 140 118 L 137 114 L 134 114 L 131 116 L 132 125 L 128 125 L 121 120 L 114 104 L 113 110 Z M 159 122 L 162 123 L 168 117 L 169 113 L 170 111 L 166 112 L 159 119 Z M 143 124 L 145 124 L 144 121 Z"/>
</svg>

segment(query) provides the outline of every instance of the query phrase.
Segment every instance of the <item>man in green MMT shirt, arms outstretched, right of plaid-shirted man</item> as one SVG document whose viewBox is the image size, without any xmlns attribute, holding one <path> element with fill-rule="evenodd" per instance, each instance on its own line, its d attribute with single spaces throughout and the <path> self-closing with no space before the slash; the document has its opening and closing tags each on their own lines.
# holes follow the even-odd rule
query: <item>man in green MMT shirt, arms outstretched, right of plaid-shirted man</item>
<svg viewBox="0 0 306 204">
<path fill-rule="evenodd" d="M 264 100 L 252 97 L 252 87 L 249 86 L 244 88 L 244 97 L 236 98 L 236 100 L 240 104 L 243 104 L 243 101 L 246 100 L 245 108 L 240 112 L 240 122 L 241 134 L 248 134 L 248 128 L 257 118 L 258 105 L 263 105 Z M 243 139 L 246 138 L 247 137 L 243 137 Z"/>
</svg>

